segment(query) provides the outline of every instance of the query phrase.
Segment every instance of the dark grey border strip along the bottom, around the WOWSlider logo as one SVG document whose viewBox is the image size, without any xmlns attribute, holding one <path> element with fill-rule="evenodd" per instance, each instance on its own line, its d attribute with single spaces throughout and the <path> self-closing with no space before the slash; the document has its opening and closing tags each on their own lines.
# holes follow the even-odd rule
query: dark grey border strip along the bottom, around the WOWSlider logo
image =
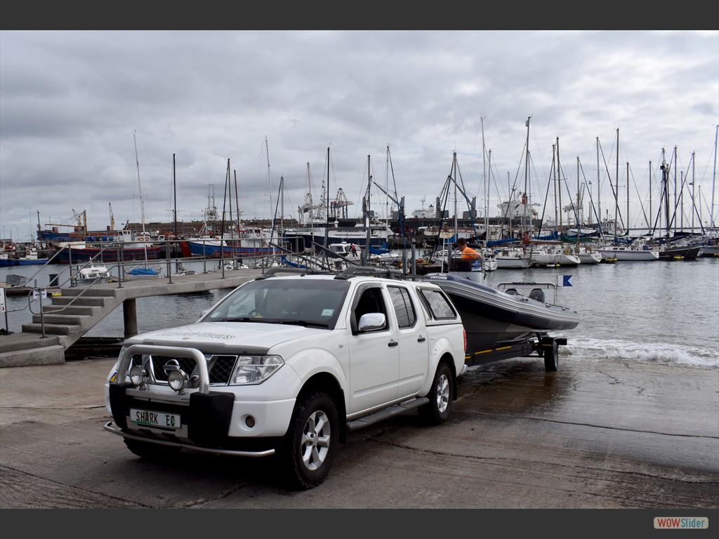
<svg viewBox="0 0 719 539">
<path fill-rule="evenodd" d="M 348 493 L 348 496 L 351 496 Z M 208 515 L 207 512 L 211 512 Z M 314 514 L 313 514 L 314 513 Z M 719 522 L 719 510 L 670 509 L 592 509 L 592 510 L 462 510 L 462 509 L 296 509 L 283 510 L 282 518 L 274 518 L 277 510 L 4 510 L 0 512 L 3 528 L 22 530 L 28 535 L 35 530 L 46 535 L 70 533 L 79 538 L 157 539 L 180 533 L 209 537 L 241 535 L 270 538 L 274 533 L 344 535 L 352 537 L 396 536 L 451 537 L 469 535 L 477 538 L 505 537 L 521 533 L 523 537 L 548 536 L 577 538 L 585 535 L 620 534 L 641 539 L 676 537 L 690 531 L 657 530 L 654 517 L 707 517 L 709 528 L 691 530 L 690 537 L 705 538 L 706 530 Z M 221 530 L 221 532 L 219 531 Z M 313 530 L 311 532 L 310 530 Z M 333 531 L 331 531 L 333 530 Z M 664 534 L 664 535 L 661 535 Z"/>
</svg>

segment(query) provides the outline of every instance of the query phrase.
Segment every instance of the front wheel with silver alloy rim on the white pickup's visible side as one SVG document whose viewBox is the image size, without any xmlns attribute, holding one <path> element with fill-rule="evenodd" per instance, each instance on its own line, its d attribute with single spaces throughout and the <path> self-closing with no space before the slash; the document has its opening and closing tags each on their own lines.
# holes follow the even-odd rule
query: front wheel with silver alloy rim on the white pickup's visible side
<svg viewBox="0 0 719 539">
<path fill-rule="evenodd" d="M 324 392 L 298 398 L 280 459 L 290 489 L 311 489 L 324 481 L 339 444 L 334 400 Z"/>
</svg>

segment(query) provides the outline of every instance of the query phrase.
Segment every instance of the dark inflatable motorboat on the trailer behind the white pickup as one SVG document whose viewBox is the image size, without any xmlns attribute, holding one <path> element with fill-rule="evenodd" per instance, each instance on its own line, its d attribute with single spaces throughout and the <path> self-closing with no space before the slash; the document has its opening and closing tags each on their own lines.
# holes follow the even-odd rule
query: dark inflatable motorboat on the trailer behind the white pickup
<svg viewBox="0 0 719 539">
<path fill-rule="evenodd" d="M 467 350 L 576 328 L 580 315 L 557 305 L 552 282 L 503 282 L 496 288 L 451 273 L 429 273 L 423 280 L 439 285 L 459 310 L 467 331 Z"/>
</svg>

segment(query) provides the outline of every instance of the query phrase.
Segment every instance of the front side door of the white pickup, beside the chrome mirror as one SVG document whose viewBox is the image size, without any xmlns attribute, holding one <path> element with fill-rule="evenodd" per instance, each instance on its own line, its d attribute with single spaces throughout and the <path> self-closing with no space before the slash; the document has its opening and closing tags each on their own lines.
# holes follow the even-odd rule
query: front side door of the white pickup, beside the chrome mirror
<svg viewBox="0 0 719 539">
<path fill-rule="evenodd" d="M 394 400 L 399 376 L 399 341 L 392 315 L 380 285 L 357 289 L 349 312 L 349 408 L 348 414 Z M 358 331 L 359 319 L 366 313 L 383 313 L 385 326 Z"/>
</svg>

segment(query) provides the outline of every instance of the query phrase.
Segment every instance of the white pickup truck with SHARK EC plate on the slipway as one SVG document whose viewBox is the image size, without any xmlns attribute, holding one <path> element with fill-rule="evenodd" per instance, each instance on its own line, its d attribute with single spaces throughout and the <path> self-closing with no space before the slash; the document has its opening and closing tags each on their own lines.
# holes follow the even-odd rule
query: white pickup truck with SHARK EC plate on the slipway
<svg viewBox="0 0 719 539">
<path fill-rule="evenodd" d="M 462 321 L 439 286 L 395 277 L 277 268 L 197 323 L 127 339 L 104 429 L 148 459 L 276 455 L 287 486 L 306 489 L 348 430 L 413 408 L 444 423 L 466 369 Z"/>
</svg>

